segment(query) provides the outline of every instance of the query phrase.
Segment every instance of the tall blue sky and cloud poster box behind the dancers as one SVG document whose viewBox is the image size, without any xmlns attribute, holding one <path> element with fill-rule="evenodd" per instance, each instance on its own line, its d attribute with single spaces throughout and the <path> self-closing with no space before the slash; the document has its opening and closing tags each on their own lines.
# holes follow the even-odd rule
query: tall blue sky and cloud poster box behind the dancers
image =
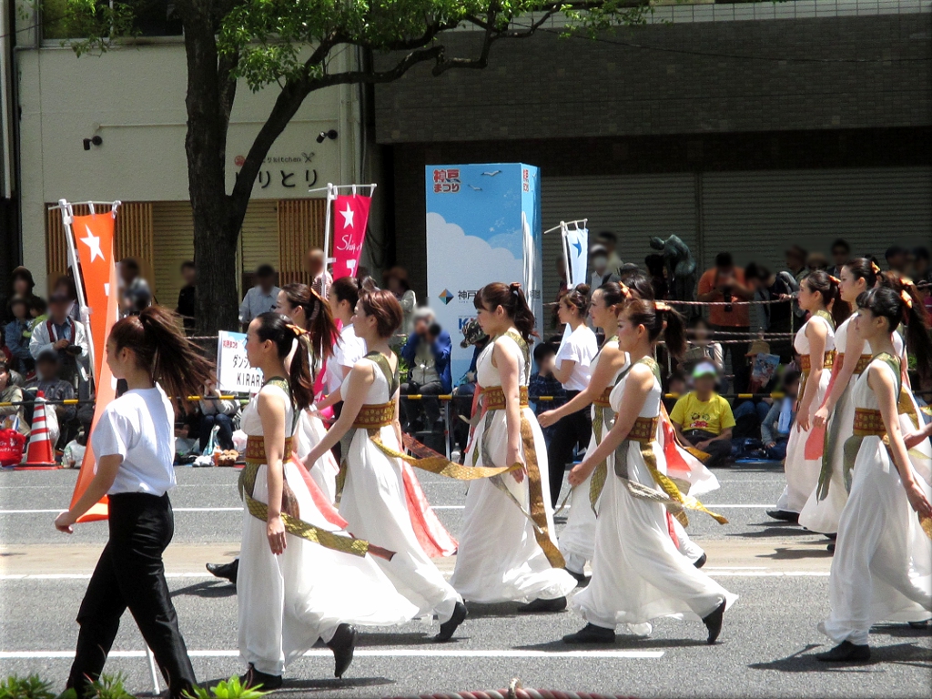
<svg viewBox="0 0 932 699">
<path fill-rule="evenodd" d="M 475 317 L 475 293 L 487 283 L 520 281 L 540 333 L 540 174 L 521 163 L 425 168 L 428 301 L 453 341 L 454 384 L 473 359 L 473 348 L 459 341 Z"/>
</svg>

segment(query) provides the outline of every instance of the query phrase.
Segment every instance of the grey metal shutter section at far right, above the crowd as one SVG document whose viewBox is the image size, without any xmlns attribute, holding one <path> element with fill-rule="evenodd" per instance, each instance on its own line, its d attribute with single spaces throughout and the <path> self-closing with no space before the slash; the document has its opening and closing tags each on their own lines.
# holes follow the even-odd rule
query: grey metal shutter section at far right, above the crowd
<svg viewBox="0 0 932 699">
<path fill-rule="evenodd" d="M 836 238 L 883 265 L 888 246 L 928 246 L 932 232 L 928 167 L 709 172 L 702 186 L 706 269 L 723 251 L 780 269 L 789 245 L 828 256 Z"/>
</svg>

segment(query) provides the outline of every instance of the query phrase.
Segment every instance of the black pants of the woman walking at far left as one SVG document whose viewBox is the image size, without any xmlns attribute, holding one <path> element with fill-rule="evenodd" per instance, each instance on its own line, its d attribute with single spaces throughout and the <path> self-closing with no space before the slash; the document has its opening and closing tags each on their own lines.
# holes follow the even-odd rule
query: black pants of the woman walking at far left
<svg viewBox="0 0 932 699">
<path fill-rule="evenodd" d="M 162 565 L 162 552 L 173 533 L 167 495 L 110 496 L 110 541 L 77 613 L 81 631 L 68 687 L 79 695 L 89 679 L 100 677 L 127 608 L 156 657 L 171 697 L 181 697 L 195 683 Z"/>
</svg>

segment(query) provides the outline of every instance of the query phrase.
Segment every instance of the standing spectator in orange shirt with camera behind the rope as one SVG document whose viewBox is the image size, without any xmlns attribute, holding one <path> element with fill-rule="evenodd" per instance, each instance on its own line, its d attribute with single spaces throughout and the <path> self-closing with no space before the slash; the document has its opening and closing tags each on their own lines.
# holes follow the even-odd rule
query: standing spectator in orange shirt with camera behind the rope
<svg viewBox="0 0 932 699">
<path fill-rule="evenodd" d="M 750 301 L 754 291 L 745 284 L 745 270 L 734 267 L 731 253 L 719 253 L 715 256 L 715 267 L 706 269 L 699 279 L 698 300 L 724 303 L 724 306 L 710 306 L 708 321 L 713 330 L 750 335 L 750 310 L 747 306 L 733 306 L 733 301 Z M 720 336 L 717 340 L 739 339 L 738 336 Z M 723 342 L 724 354 L 732 361 L 734 372 L 734 391 L 747 391 L 748 367 L 745 362 L 747 345 Z"/>
</svg>

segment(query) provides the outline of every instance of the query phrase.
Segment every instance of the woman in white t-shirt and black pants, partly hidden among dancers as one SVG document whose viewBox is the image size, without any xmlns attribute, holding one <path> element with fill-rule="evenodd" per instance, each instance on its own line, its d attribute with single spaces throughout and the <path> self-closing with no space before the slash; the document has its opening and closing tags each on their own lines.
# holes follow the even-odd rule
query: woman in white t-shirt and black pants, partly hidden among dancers
<svg viewBox="0 0 932 699">
<path fill-rule="evenodd" d="M 566 389 L 567 399 L 571 401 L 589 385 L 589 365 L 598 353 L 596 334 L 585 324 L 589 313 L 589 286 L 578 284 L 570 289 L 560 299 L 556 313 L 560 322 L 567 324 L 567 334 L 556 350 L 554 377 Z M 555 422 L 547 445 L 550 498 L 554 506 L 559 501 L 563 472 L 573 459 L 573 447 L 585 448 L 591 434 L 592 418 L 587 406 Z"/>
</svg>

